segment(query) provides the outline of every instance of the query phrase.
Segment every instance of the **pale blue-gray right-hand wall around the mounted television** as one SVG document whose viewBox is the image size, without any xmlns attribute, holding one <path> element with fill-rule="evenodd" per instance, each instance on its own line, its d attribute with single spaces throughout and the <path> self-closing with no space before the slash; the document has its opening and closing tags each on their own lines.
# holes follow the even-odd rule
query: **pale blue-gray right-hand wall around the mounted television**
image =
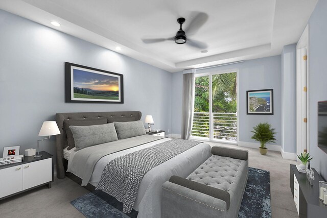
<svg viewBox="0 0 327 218">
<path fill-rule="evenodd" d="M 317 102 L 327 100 L 327 1 L 319 1 L 309 20 L 309 152 L 311 166 L 327 179 L 327 154 L 317 146 Z"/>
</svg>

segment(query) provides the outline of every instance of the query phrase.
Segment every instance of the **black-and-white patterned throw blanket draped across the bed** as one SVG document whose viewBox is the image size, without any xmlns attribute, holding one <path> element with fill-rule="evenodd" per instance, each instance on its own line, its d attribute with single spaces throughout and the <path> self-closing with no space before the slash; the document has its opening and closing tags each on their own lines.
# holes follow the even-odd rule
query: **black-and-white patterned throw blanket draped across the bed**
<svg viewBox="0 0 327 218">
<path fill-rule="evenodd" d="M 139 183 L 153 167 L 179 155 L 201 142 L 172 139 L 132 152 L 110 161 L 103 169 L 100 189 L 123 202 L 123 212 L 132 210 Z"/>
</svg>

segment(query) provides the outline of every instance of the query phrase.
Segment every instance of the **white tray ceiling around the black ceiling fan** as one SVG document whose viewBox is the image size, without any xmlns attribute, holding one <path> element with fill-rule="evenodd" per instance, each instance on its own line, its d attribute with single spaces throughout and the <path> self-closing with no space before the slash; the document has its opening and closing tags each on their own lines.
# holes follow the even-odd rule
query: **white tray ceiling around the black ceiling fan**
<svg viewBox="0 0 327 218">
<path fill-rule="evenodd" d="M 296 43 L 318 0 L 2 0 L 0 8 L 42 25 L 177 72 L 240 60 L 279 55 Z M 174 41 L 145 44 L 142 39 L 170 38 L 177 18 L 196 12 L 207 21 L 190 39 L 206 42 L 207 53 Z M 58 21 L 54 27 L 50 21 Z"/>
</svg>

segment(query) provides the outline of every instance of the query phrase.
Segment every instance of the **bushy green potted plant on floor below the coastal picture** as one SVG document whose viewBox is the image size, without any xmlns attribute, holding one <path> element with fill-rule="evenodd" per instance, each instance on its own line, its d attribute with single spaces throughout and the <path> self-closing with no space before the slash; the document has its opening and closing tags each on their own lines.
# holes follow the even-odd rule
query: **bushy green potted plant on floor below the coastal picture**
<svg viewBox="0 0 327 218">
<path fill-rule="evenodd" d="M 267 154 L 267 148 L 266 148 L 266 143 L 268 142 L 273 142 L 275 143 L 275 129 L 271 128 L 271 125 L 266 123 L 260 123 L 253 127 L 253 136 L 251 137 L 252 139 L 256 141 L 260 141 L 260 148 L 259 152 L 262 155 Z"/>
</svg>

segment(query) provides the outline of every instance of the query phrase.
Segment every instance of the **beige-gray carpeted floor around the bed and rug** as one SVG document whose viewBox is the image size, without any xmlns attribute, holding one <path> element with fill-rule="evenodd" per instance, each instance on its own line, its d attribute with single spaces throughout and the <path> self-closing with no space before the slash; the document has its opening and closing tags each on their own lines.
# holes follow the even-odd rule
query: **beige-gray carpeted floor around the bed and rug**
<svg viewBox="0 0 327 218">
<path fill-rule="evenodd" d="M 271 217 L 298 217 L 290 188 L 290 164 L 296 164 L 296 161 L 285 160 L 281 153 L 274 151 L 261 155 L 258 149 L 209 144 L 248 150 L 249 166 L 270 172 Z M 89 191 L 67 177 L 58 179 L 55 175 L 54 179 L 52 188 L 42 186 L 0 201 L 0 217 L 85 217 L 69 202 Z"/>
</svg>

